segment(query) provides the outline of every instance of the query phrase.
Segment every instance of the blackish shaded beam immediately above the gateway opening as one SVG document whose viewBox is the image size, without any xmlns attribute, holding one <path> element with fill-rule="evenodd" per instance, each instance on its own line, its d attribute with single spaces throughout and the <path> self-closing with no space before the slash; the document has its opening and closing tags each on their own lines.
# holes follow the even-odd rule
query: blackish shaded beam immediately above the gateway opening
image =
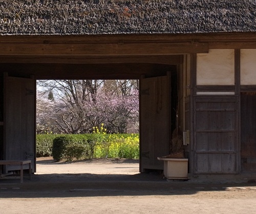
<svg viewBox="0 0 256 214">
<path fill-rule="evenodd" d="M 150 63 L 63 64 L 63 63 L 1 63 L 0 73 L 35 79 L 139 79 L 141 75 L 162 76 L 176 71 L 174 65 Z"/>
</svg>

